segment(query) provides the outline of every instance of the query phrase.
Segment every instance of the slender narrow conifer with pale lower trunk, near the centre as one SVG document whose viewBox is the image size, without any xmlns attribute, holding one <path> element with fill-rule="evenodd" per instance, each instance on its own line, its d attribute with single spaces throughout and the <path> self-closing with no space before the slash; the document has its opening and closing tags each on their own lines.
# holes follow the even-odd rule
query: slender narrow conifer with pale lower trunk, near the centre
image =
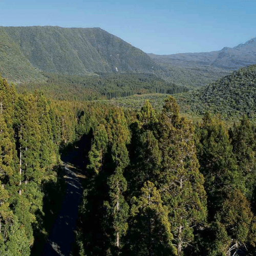
<svg viewBox="0 0 256 256">
<path fill-rule="evenodd" d="M 114 229 L 114 253 L 119 253 L 123 243 L 122 237 L 127 230 L 127 217 L 129 206 L 126 203 L 123 194 L 127 189 L 127 182 L 123 176 L 124 168 L 129 164 L 129 156 L 126 147 L 129 141 L 129 131 L 122 110 L 116 109 L 110 116 L 109 131 L 111 131 L 110 153 L 112 164 L 111 173 L 108 178 L 109 200 L 104 204 L 108 208 L 108 218 Z M 116 249 L 115 249 L 116 248 Z M 115 252 L 116 251 L 116 252 Z"/>
</svg>

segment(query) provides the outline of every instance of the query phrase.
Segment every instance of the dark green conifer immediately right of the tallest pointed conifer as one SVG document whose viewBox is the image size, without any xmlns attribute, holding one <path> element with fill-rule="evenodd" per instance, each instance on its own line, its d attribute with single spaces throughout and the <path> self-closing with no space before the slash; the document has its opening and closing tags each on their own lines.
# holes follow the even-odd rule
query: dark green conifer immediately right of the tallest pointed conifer
<svg viewBox="0 0 256 256">
<path fill-rule="evenodd" d="M 242 188 L 243 184 L 227 129 L 219 117 L 212 118 L 209 113 L 204 115 L 202 123 L 196 126 L 196 146 L 211 221 L 228 191 Z"/>
</svg>

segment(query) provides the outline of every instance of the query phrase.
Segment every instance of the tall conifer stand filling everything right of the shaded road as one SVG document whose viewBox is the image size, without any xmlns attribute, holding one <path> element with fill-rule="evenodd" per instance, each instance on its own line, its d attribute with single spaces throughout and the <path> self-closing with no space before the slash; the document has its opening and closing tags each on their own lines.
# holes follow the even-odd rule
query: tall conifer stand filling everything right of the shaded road
<svg viewBox="0 0 256 256">
<path fill-rule="evenodd" d="M 98 115 L 97 115 L 98 116 Z M 132 117 L 132 118 L 131 118 Z M 98 123 L 98 121 L 97 121 Z M 113 109 L 93 129 L 73 255 L 254 255 L 255 126 Z"/>
</svg>

